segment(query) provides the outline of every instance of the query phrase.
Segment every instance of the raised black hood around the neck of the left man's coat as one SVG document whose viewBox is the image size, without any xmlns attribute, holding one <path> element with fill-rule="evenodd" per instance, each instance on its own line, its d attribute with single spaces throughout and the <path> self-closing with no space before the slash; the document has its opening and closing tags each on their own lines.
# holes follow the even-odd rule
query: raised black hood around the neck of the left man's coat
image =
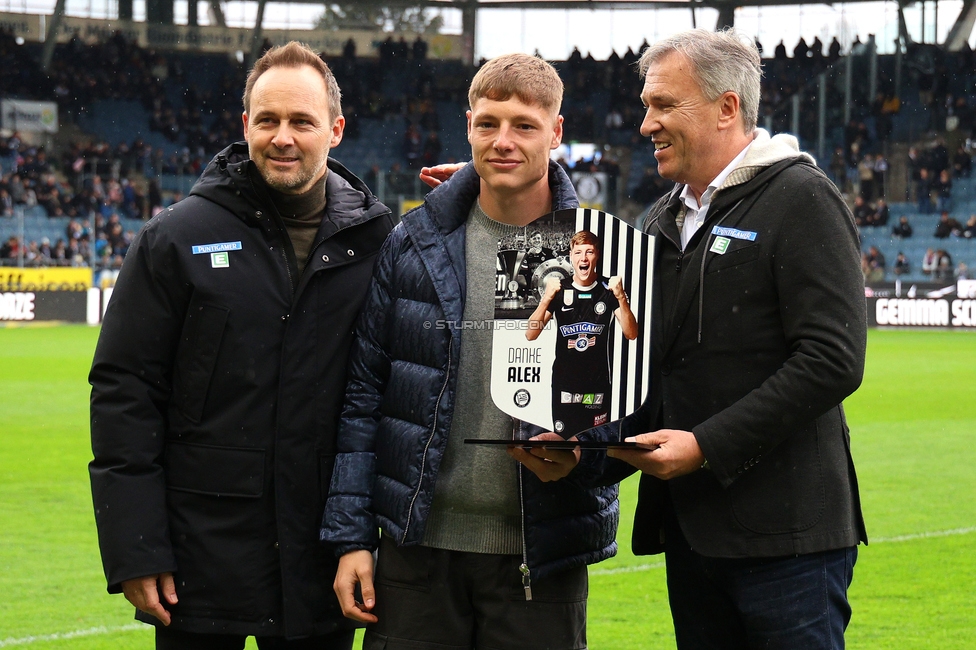
<svg viewBox="0 0 976 650">
<path fill-rule="evenodd" d="M 342 164 L 332 158 L 327 164 L 325 216 L 334 224 L 333 232 L 390 212 Z M 190 194 L 213 201 L 246 222 L 251 222 L 255 211 L 273 205 L 267 186 L 248 155 L 246 142 L 235 142 L 214 156 Z"/>
</svg>

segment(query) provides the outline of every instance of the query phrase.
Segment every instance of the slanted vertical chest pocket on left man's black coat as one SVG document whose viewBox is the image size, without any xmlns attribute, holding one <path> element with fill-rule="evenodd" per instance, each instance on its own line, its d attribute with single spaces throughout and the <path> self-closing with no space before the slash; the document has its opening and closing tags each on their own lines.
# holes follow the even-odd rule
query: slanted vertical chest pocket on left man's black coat
<svg viewBox="0 0 976 650">
<path fill-rule="evenodd" d="M 192 422 L 199 423 L 203 417 L 229 313 L 225 307 L 191 303 L 183 322 L 173 397 L 176 408 Z"/>
</svg>

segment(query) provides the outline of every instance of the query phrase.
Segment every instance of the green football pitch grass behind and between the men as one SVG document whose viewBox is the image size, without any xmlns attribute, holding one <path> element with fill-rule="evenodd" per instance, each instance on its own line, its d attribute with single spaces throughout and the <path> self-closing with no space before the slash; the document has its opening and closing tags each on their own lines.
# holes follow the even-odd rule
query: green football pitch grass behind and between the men
<svg viewBox="0 0 976 650">
<path fill-rule="evenodd" d="M 97 334 L 0 328 L 0 648 L 152 647 L 105 592 L 95 542 L 86 375 Z M 848 647 L 976 648 L 976 334 L 872 331 L 846 407 L 871 539 Z M 631 479 L 620 553 L 591 567 L 594 650 L 674 648 L 661 558 L 629 550 L 635 498 Z"/>
</svg>

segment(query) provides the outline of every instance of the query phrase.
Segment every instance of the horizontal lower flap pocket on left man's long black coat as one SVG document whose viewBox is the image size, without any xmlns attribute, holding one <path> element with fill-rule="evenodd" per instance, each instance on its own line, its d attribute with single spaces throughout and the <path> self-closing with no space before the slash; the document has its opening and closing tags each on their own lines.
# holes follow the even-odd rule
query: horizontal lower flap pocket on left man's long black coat
<svg viewBox="0 0 976 650">
<path fill-rule="evenodd" d="M 163 457 L 170 490 L 256 499 L 264 493 L 264 450 L 166 443 Z"/>
</svg>

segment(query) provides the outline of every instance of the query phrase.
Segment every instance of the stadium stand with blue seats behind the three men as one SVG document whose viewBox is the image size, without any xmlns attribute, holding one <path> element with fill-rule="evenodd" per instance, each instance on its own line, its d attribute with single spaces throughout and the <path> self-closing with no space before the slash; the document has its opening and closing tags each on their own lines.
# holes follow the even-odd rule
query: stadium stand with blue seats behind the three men
<svg viewBox="0 0 976 650">
<path fill-rule="evenodd" d="M 976 104 L 973 54 L 968 46 L 949 54 L 934 45 L 912 44 L 904 57 L 907 82 L 898 96 L 896 57 L 878 57 L 877 93 L 870 97 L 869 45 L 856 41 L 844 57 L 833 45 L 826 51 L 808 47 L 802 58 L 777 48 L 764 59 L 760 125 L 776 132 L 795 125 L 803 148 L 814 150 L 815 88 L 822 74 L 827 80 L 826 151 L 835 153 L 822 156 L 820 164 L 855 209 L 857 196 L 872 210 L 879 198 L 888 201 L 887 223 L 861 228 L 863 250 L 875 246 L 887 260 L 885 278 L 894 277 L 899 251 L 911 263 L 903 280 L 928 279 L 921 258 L 929 248 L 947 251 L 954 264 L 976 268 L 976 241 L 964 233 L 933 236 L 936 201 L 960 224 L 976 215 L 967 140 Z M 638 53 L 628 50 L 596 61 L 577 50 L 556 62 L 566 82 L 564 140 L 592 142 L 609 151 L 600 163 L 582 162 L 608 172 L 614 185 L 621 174 L 620 198 L 634 214 L 669 187 L 656 176 L 653 152 L 638 134 L 643 117 L 635 100 L 641 87 L 634 68 Z M 27 263 L 117 265 L 125 233 L 185 195 L 210 158 L 240 138 L 247 65 L 223 54 L 147 50 L 121 34 L 96 44 L 78 39 L 59 44 L 48 73 L 41 71 L 40 57 L 39 44 L 18 44 L 0 31 L 0 94 L 57 101 L 62 123 L 71 127 L 63 129 L 70 135 L 56 143 L 51 159 L 17 134 L 0 140 L 0 243 L 21 236 L 22 214 Z M 426 188 L 416 179 L 416 166 L 467 158 L 464 109 L 476 68 L 389 53 L 379 59 L 347 53 L 328 61 L 343 89 L 347 117 L 336 155 L 381 199 L 396 205 L 400 196 L 420 197 Z M 857 82 L 851 84 L 845 124 L 840 80 L 848 71 Z M 793 97 L 799 98 L 798 112 Z M 957 168 L 963 159 L 965 169 Z M 945 192 L 925 185 L 921 177 L 931 181 L 943 170 L 951 189 L 940 199 Z M 929 195 L 935 198 L 932 212 L 924 201 Z M 891 234 L 901 216 L 914 228 L 909 239 Z M 72 220 L 82 232 L 75 233 L 76 241 L 66 235 Z M 116 223 L 121 238 L 111 232 L 118 230 Z M 68 254 L 49 259 L 45 239 L 53 242 L 48 245 L 52 252 L 60 250 L 62 240 Z M 16 256 L 0 259 L 18 262 Z"/>
</svg>

